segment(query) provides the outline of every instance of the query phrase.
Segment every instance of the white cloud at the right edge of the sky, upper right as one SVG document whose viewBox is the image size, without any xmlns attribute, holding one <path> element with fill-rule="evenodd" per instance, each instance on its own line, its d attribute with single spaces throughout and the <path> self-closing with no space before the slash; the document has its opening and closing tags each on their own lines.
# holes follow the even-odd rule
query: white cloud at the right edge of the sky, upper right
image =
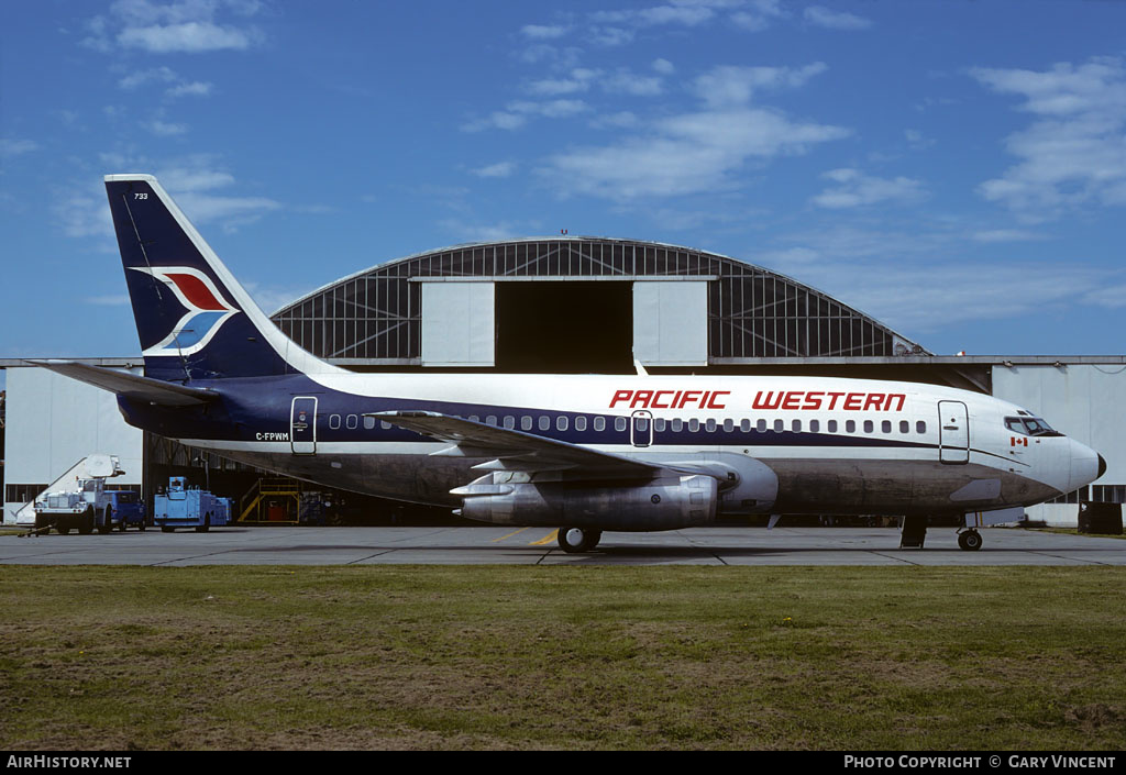
<svg viewBox="0 0 1126 775">
<path fill-rule="evenodd" d="M 978 68 L 971 75 L 1025 98 L 1033 123 L 1006 139 L 1018 159 L 978 194 L 1035 222 L 1081 206 L 1126 205 L 1126 69 L 1099 57 L 1047 71 Z"/>
</svg>

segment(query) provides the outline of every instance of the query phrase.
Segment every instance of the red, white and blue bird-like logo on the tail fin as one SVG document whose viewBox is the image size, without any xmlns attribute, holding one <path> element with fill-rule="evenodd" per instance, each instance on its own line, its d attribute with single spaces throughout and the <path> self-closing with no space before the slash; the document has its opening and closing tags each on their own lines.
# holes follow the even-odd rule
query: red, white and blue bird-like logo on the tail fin
<svg viewBox="0 0 1126 775">
<path fill-rule="evenodd" d="M 145 356 L 191 355 L 207 346 L 240 310 L 230 304 L 211 277 L 191 267 L 129 267 L 163 283 L 187 310 L 168 336 L 145 349 Z"/>
</svg>

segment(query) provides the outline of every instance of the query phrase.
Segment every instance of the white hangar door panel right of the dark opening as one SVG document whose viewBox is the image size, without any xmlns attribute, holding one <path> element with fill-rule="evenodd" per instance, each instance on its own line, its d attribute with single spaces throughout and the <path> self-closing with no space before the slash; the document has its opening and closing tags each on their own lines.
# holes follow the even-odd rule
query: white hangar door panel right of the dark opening
<svg viewBox="0 0 1126 775">
<path fill-rule="evenodd" d="M 646 366 L 707 365 L 707 282 L 634 283 L 634 357 Z"/>
</svg>

